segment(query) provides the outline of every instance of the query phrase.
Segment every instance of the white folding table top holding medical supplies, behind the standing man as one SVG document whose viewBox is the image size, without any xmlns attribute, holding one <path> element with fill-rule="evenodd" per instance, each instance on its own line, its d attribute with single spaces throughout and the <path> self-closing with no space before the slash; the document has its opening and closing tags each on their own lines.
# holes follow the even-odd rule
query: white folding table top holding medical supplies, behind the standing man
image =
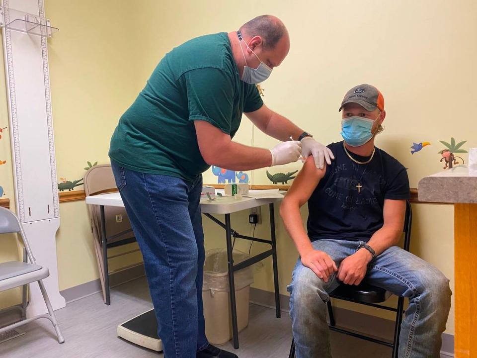
<svg viewBox="0 0 477 358">
<path fill-rule="evenodd" d="M 250 190 L 250 193 L 252 192 L 260 192 L 260 190 Z M 201 199 L 200 208 L 204 214 L 230 214 L 280 200 L 280 198 L 254 199 L 248 197 L 236 200 L 233 196 L 217 196 L 217 199 L 213 201 L 209 201 L 206 198 Z M 86 196 L 86 204 L 124 207 L 119 192 Z"/>
</svg>

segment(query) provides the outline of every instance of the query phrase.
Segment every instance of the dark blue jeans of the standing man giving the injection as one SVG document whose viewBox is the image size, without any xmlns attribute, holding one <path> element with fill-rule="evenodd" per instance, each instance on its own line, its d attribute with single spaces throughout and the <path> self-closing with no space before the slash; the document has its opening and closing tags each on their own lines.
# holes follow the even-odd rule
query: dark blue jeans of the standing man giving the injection
<svg viewBox="0 0 477 358">
<path fill-rule="evenodd" d="M 195 181 L 111 166 L 144 259 L 165 358 L 196 358 L 209 344 L 202 304 L 202 176 Z"/>
</svg>

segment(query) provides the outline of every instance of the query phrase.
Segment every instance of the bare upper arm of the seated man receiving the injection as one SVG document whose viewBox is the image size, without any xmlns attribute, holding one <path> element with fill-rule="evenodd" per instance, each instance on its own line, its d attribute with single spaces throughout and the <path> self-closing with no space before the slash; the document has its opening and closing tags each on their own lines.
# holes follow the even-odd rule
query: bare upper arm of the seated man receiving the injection
<svg viewBox="0 0 477 358">
<path fill-rule="evenodd" d="M 293 201 L 298 203 L 299 206 L 303 206 L 310 199 L 319 180 L 324 177 L 325 173 L 326 165 L 323 169 L 318 169 L 313 156 L 309 156 L 297 178 L 293 180 L 284 201 Z"/>
</svg>

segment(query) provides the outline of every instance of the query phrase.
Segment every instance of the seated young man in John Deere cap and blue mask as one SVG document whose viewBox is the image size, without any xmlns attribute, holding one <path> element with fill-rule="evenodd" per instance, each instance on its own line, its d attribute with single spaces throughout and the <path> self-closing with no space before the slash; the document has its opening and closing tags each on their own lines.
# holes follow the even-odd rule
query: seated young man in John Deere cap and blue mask
<svg viewBox="0 0 477 358">
<path fill-rule="evenodd" d="M 373 86 L 357 86 L 339 110 L 344 141 L 328 146 L 335 160 L 319 170 L 309 157 L 280 207 L 300 254 L 288 286 L 296 357 L 331 357 L 328 293 L 364 279 L 409 299 L 399 357 L 438 358 L 451 302 L 449 280 L 395 246 L 409 181 L 405 168 L 374 146 L 386 116 L 383 95 Z M 308 234 L 300 215 L 307 202 Z"/>
</svg>

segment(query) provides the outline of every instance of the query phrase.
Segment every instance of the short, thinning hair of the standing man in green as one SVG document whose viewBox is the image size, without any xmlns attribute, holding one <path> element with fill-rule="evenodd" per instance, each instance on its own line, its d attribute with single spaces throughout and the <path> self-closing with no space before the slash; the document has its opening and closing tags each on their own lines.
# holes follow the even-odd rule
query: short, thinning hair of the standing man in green
<svg viewBox="0 0 477 358">
<path fill-rule="evenodd" d="M 240 26 L 240 32 L 244 35 L 261 36 L 264 49 L 273 49 L 285 31 L 283 22 L 271 15 L 257 16 Z"/>
</svg>

